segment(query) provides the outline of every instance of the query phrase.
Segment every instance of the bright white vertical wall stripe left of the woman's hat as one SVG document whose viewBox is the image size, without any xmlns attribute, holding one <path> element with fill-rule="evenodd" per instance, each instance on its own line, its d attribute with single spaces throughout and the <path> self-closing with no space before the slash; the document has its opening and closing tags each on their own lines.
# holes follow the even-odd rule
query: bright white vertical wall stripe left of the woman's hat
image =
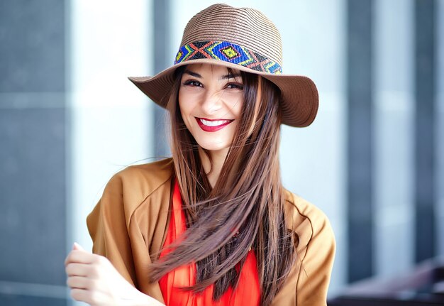
<svg viewBox="0 0 444 306">
<path fill-rule="evenodd" d="M 91 250 L 86 219 L 106 182 L 152 156 L 148 99 L 127 79 L 150 69 L 150 1 L 76 0 L 69 6 L 67 246 L 77 241 Z"/>
</svg>

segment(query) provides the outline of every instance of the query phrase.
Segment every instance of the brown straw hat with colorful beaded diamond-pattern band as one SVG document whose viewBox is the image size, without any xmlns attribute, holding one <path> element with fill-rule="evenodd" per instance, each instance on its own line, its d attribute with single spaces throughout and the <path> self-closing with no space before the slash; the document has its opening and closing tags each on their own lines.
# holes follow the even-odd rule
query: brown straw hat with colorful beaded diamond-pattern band
<svg viewBox="0 0 444 306">
<path fill-rule="evenodd" d="M 164 107 L 174 70 L 194 63 L 223 65 L 261 75 L 282 93 L 282 123 L 309 126 L 318 111 L 318 91 L 308 77 L 282 75 L 282 41 L 276 26 L 255 9 L 214 4 L 188 22 L 172 67 L 154 77 L 129 77 L 152 101 Z"/>
</svg>

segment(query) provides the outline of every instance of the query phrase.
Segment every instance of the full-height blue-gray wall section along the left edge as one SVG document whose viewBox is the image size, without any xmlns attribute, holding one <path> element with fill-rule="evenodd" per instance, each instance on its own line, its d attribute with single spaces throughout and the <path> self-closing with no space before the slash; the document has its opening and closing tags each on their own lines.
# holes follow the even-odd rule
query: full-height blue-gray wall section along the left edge
<svg viewBox="0 0 444 306">
<path fill-rule="evenodd" d="M 0 305 L 66 305 L 65 1 L 0 1 Z"/>
</svg>

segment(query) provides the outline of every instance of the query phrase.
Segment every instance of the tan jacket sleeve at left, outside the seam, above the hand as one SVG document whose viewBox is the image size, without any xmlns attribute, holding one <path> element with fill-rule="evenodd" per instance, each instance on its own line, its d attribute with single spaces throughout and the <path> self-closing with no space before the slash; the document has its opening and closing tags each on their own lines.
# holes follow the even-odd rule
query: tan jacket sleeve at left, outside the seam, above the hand
<svg viewBox="0 0 444 306">
<path fill-rule="evenodd" d="M 108 258 L 129 283 L 136 285 L 127 220 L 122 182 L 116 175 L 108 182 L 101 200 L 87 217 L 87 226 L 93 241 L 93 253 Z"/>
</svg>

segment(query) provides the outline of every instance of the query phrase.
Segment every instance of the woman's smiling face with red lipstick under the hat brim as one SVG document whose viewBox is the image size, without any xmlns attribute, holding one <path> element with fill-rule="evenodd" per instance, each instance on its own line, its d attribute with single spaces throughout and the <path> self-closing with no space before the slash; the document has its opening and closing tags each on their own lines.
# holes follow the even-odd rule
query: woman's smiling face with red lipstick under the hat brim
<svg viewBox="0 0 444 306">
<path fill-rule="evenodd" d="M 227 150 L 243 106 L 238 70 L 209 64 L 187 65 L 179 88 L 182 119 L 196 142 L 209 151 Z"/>
</svg>

